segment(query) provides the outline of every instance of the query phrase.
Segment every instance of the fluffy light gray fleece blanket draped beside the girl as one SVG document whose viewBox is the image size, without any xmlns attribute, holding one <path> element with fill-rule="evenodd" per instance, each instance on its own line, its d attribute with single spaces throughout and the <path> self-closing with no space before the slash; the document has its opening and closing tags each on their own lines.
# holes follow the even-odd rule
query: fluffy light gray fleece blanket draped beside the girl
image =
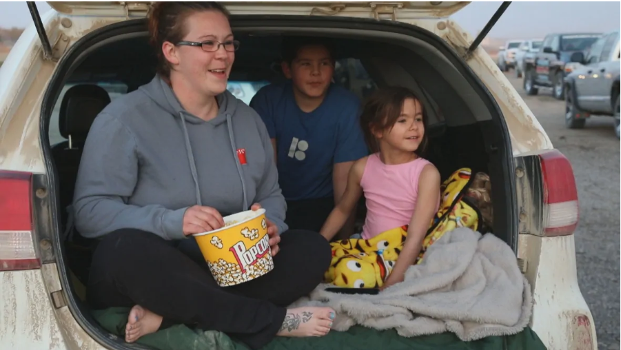
<svg viewBox="0 0 621 350">
<path fill-rule="evenodd" d="M 331 285 L 319 285 L 292 307 L 332 307 L 337 331 L 353 325 L 394 328 L 405 337 L 451 331 L 470 341 L 516 334 L 531 317 L 531 289 L 511 247 L 467 228 L 447 232 L 403 282 L 378 295 L 335 294 L 326 287 Z"/>
</svg>

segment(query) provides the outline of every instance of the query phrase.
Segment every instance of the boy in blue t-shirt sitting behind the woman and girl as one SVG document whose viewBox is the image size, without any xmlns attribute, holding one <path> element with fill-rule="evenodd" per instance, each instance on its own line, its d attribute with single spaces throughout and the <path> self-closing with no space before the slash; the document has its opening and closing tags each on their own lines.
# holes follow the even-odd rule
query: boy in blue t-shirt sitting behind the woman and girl
<svg viewBox="0 0 621 350">
<path fill-rule="evenodd" d="M 289 229 L 319 231 L 345 192 L 349 168 L 368 154 L 360 101 L 332 83 L 334 64 L 327 42 L 285 40 L 281 66 L 288 80 L 265 86 L 250 102 L 272 138 Z M 338 238 L 354 233 L 354 216 Z"/>
</svg>

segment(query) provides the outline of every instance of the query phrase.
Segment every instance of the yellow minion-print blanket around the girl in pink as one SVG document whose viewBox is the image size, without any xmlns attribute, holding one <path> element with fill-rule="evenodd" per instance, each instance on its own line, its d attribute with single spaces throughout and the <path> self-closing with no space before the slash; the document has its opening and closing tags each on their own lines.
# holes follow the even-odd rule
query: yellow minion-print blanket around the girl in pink
<svg viewBox="0 0 621 350">
<path fill-rule="evenodd" d="M 480 228 L 480 212 L 474 200 L 467 196 L 473 181 L 471 170 L 461 168 L 442 183 L 440 208 L 431 220 L 417 264 L 423 260 L 429 246 L 446 232 L 456 227 L 469 227 L 475 231 Z M 350 238 L 330 243 L 332 263 L 325 273 L 325 282 L 331 282 L 337 287 L 382 287 L 403 249 L 406 236 L 407 225 L 390 229 L 368 240 Z"/>
</svg>

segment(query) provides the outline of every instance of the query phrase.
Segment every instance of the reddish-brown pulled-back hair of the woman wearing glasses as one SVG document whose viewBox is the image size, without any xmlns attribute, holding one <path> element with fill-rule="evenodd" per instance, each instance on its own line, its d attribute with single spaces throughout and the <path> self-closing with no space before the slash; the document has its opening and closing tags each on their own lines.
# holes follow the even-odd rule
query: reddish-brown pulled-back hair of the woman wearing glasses
<svg viewBox="0 0 621 350">
<path fill-rule="evenodd" d="M 170 63 L 164 57 L 162 45 L 165 41 L 178 43 L 187 34 L 185 19 L 194 12 L 217 11 L 230 17 L 228 10 L 216 2 L 157 2 L 147 15 L 150 42 L 157 53 L 157 72 L 164 78 L 170 77 Z"/>
</svg>

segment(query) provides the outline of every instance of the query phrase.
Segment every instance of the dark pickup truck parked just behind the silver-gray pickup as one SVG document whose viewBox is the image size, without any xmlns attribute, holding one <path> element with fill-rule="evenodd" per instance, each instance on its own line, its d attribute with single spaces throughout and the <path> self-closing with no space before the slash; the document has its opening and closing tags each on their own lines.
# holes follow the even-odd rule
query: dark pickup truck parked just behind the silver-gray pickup
<svg viewBox="0 0 621 350">
<path fill-rule="evenodd" d="M 552 88 L 556 99 L 564 99 L 564 65 L 570 61 L 571 54 L 582 52 L 586 55 L 591 45 L 601 33 L 555 33 L 548 34 L 533 58 L 525 60 L 524 90 L 536 95 L 539 88 Z"/>
</svg>

